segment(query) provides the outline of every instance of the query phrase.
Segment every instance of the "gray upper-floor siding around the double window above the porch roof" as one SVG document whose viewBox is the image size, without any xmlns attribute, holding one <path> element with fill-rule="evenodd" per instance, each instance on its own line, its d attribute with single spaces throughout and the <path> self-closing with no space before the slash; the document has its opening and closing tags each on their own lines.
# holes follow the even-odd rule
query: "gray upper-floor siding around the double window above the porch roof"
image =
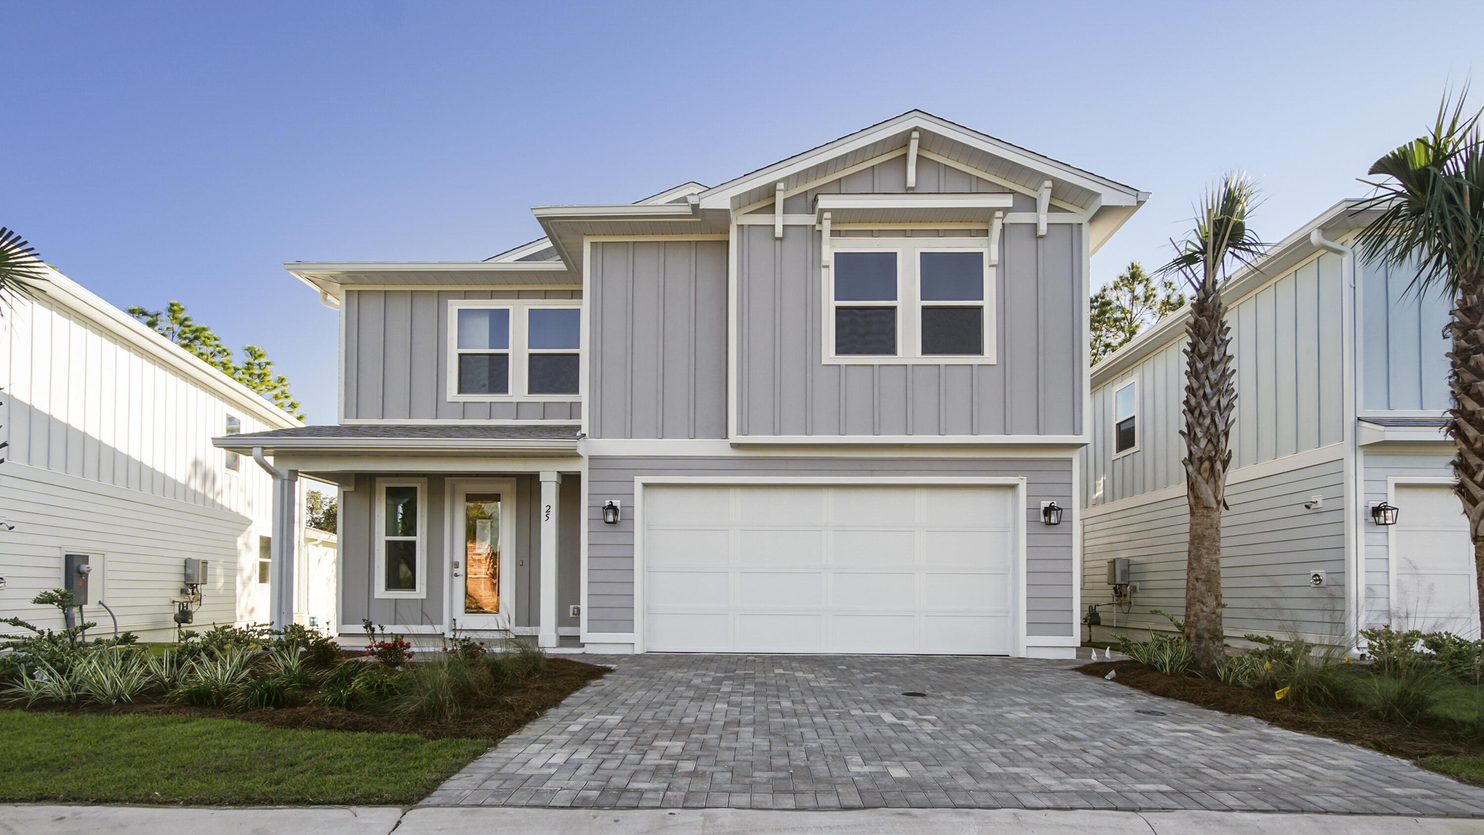
<svg viewBox="0 0 1484 835">
<path fill-rule="evenodd" d="M 568 289 L 350 289 L 344 322 L 344 420 L 570 420 L 582 402 L 453 402 L 448 399 L 448 303 L 574 300 Z"/>
</svg>

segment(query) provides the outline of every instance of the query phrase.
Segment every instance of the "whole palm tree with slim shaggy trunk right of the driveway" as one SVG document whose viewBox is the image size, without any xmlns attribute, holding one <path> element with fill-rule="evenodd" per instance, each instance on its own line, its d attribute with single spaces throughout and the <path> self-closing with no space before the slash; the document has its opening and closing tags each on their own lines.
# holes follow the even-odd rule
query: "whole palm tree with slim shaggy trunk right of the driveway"
<svg viewBox="0 0 1484 835">
<path fill-rule="evenodd" d="M 1227 174 L 1196 206 L 1195 228 L 1174 243 L 1175 258 L 1159 268 L 1190 285 L 1186 335 L 1186 498 L 1190 534 L 1186 546 L 1186 639 L 1196 667 L 1212 673 L 1226 657 L 1221 624 L 1221 510 L 1236 387 L 1232 331 L 1226 323 L 1221 285 L 1233 264 L 1250 264 L 1263 243 L 1247 221 L 1257 206 L 1257 185 L 1244 174 Z"/>
</svg>

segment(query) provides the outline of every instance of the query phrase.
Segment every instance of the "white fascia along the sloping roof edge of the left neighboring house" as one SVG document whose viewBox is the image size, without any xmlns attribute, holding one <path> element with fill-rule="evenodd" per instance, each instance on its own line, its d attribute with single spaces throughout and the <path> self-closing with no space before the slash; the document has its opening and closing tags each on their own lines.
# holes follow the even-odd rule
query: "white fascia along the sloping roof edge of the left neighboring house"
<svg viewBox="0 0 1484 835">
<path fill-rule="evenodd" d="M 37 279 L 37 289 L 42 291 L 42 295 L 163 362 L 183 377 L 199 383 L 234 406 L 252 412 L 264 424 L 278 429 L 303 426 L 300 420 L 264 400 L 252 389 L 206 365 L 206 360 L 145 328 L 128 313 L 93 295 L 88 288 L 55 268 L 47 267 L 46 274 Z"/>
</svg>

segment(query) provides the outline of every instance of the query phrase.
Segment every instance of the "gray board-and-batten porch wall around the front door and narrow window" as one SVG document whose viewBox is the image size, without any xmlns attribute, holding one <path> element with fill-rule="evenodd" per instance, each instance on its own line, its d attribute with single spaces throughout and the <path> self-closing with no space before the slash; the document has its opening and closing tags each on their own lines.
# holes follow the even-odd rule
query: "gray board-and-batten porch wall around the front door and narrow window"
<svg viewBox="0 0 1484 835">
<path fill-rule="evenodd" d="M 447 483 L 450 479 L 512 478 L 515 479 L 516 519 L 515 553 L 509 574 L 512 587 L 502 590 L 502 599 L 513 604 L 515 626 L 534 627 L 540 620 L 540 483 L 534 475 L 502 476 L 500 473 L 429 475 L 423 500 L 427 531 L 423 546 L 427 593 L 423 598 L 375 596 L 375 481 L 378 476 L 358 475 L 355 489 L 340 492 L 340 623 L 356 624 L 370 618 L 383 626 L 439 626 L 444 618 L 444 574 L 448 564 L 447 543 Z M 384 473 L 387 479 L 423 478 L 421 473 Z M 559 486 L 559 516 L 556 535 L 556 626 L 576 627 L 577 618 L 567 608 L 580 602 L 582 547 L 582 479 L 564 476 Z M 457 613 L 454 614 L 457 617 Z"/>
</svg>

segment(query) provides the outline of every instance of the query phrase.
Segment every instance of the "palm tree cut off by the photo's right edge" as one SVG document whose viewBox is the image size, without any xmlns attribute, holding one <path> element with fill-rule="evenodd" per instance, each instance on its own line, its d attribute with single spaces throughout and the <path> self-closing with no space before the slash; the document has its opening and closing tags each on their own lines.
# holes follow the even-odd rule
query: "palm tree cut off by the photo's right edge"
<svg viewBox="0 0 1484 835">
<path fill-rule="evenodd" d="M 1417 268 L 1408 292 L 1445 292 L 1454 300 L 1447 334 L 1448 435 L 1457 445 L 1454 492 L 1463 501 L 1474 540 L 1474 564 L 1484 599 L 1484 142 L 1480 116 L 1465 116 L 1465 88 L 1442 96 L 1425 135 L 1371 165 L 1376 194 L 1356 212 L 1380 209 L 1356 239 L 1376 264 Z M 1484 613 L 1480 615 L 1484 626 Z"/>
</svg>

